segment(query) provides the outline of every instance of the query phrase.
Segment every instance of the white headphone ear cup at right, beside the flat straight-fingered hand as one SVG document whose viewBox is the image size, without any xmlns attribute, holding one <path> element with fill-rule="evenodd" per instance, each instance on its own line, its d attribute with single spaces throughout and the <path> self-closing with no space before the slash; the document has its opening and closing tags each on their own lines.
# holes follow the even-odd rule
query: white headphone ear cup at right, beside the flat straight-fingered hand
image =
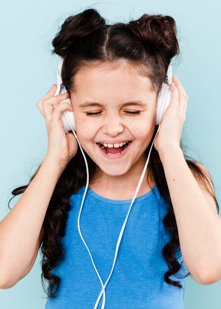
<svg viewBox="0 0 221 309">
<path fill-rule="evenodd" d="M 161 91 L 157 97 L 157 111 L 156 111 L 156 123 L 155 125 L 161 124 L 162 118 L 171 100 L 170 86 L 163 83 Z"/>
</svg>

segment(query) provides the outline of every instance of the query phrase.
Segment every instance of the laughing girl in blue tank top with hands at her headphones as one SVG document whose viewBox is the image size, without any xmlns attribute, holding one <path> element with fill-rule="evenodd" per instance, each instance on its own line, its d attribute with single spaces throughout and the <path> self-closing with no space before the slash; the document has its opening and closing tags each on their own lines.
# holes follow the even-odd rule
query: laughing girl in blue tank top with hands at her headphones
<svg viewBox="0 0 221 309">
<path fill-rule="evenodd" d="M 159 131 L 155 124 L 157 97 L 179 53 L 175 20 L 144 14 L 107 25 L 86 9 L 65 20 L 52 44 L 64 59 L 67 92 L 54 95 L 53 85 L 37 102 L 47 154 L 30 183 L 12 191 L 23 195 L 0 222 L 0 286 L 22 279 L 41 248 L 46 309 L 103 309 L 105 299 L 106 309 L 181 309 L 188 274 L 200 284 L 221 278 L 221 219 L 209 172 L 183 154 L 188 96 L 175 76 Z M 68 98 L 72 106 L 60 103 Z M 74 112 L 88 162 L 81 229 L 91 256 L 77 227 L 86 166 L 75 136 L 65 134 L 65 110 Z"/>
</svg>

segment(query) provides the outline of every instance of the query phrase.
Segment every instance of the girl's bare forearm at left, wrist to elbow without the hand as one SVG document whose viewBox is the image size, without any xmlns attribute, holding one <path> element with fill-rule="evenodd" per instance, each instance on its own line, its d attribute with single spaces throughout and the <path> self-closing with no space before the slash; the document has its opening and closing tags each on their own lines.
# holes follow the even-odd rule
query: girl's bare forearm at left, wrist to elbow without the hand
<svg viewBox="0 0 221 309">
<path fill-rule="evenodd" d="M 44 216 L 64 168 L 46 155 L 35 178 L 0 222 L 0 288 L 12 287 L 31 270 Z"/>
</svg>

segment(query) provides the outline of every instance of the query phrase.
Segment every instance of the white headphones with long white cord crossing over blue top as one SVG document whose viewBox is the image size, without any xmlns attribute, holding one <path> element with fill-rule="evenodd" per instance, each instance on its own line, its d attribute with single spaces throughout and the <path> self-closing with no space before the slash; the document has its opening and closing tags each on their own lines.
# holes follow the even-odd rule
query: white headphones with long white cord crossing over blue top
<svg viewBox="0 0 221 309">
<path fill-rule="evenodd" d="M 61 60 L 60 60 L 59 63 L 58 63 L 58 69 L 57 69 L 57 90 L 56 90 L 56 92 L 55 92 L 54 95 L 57 95 L 57 94 L 66 92 L 66 89 L 63 87 L 63 83 L 62 83 L 62 79 L 61 79 L 61 69 L 62 69 L 62 65 L 63 65 L 63 58 L 61 58 Z M 168 77 L 168 82 L 169 82 L 169 85 L 170 85 L 171 82 L 172 82 L 172 65 L 171 65 L 171 64 L 170 64 L 169 67 L 168 67 L 167 77 Z M 161 121 L 162 121 L 164 112 L 166 111 L 167 107 L 169 106 L 169 103 L 170 103 L 170 100 L 171 100 L 171 91 L 170 91 L 170 89 L 169 89 L 169 87 L 170 87 L 169 85 L 167 85 L 166 83 L 163 83 L 162 88 L 161 88 L 161 91 L 160 91 L 160 93 L 159 93 L 159 95 L 158 95 L 158 97 L 157 97 L 157 110 L 156 110 L 156 122 L 155 122 L 155 124 L 156 124 L 156 125 L 159 125 L 159 127 L 158 127 L 158 130 L 157 130 L 156 135 L 155 135 L 155 137 L 154 137 L 154 140 L 155 140 L 155 138 L 156 138 L 156 136 L 157 136 L 157 133 L 159 132 L 159 129 L 160 129 L 160 125 L 161 125 Z M 68 99 L 65 99 L 65 100 L 63 100 L 63 101 L 61 101 L 60 103 L 62 103 L 62 102 L 68 102 L 69 104 L 71 104 L 71 100 L 70 100 L 69 98 L 68 98 Z M 71 104 L 71 105 L 72 105 L 72 104 Z M 78 137 L 77 137 L 76 132 L 75 132 L 75 131 L 76 131 L 76 126 L 75 126 L 75 120 L 74 120 L 74 113 L 73 113 L 73 112 L 69 112 L 69 111 L 64 111 L 64 112 L 62 113 L 62 115 L 61 115 L 61 119 L 62 119 L 62 121 L 63 121 L 63 125 L 64 125 L 64 130 L 65 130 L 65 132 L 66 132 L 66 133 L 68 133 L 69 131 L 72 131 L 72 132 L 73 132 L 75 138 L 76 138 L 77 141 L 78 141 L 79 147 L 80 147 L 81 152 L 82 152 L 82 154 L 83 154 L 83 156 L 84 156 L 84 159 L 85 159 L 86 170 L 87 170 L 87 184 L 86 184 L 85 192 L 84 192 L 83 199 L 82 199 L 81 208 L 80 208 L 79 215 L 78 215 L 78 231 L 79 231 L 79 234 L 80 234 L 80 236 L 81 236 L 81 238 L 82 238 L 82 240 L 83 240 L 83 242 L 84 242 L 84 244 L 85 244 L 85 246 L 86 246 L 86 248 L 87 248 L 87 250 L 88 250 L 88 253 L 89 253 L 89 255 L 90 255 L 90 259 L 91 259 L 91 261 L 92 261 L 93 267 L 94 267 L 94 269 L 95 269 L 95 271 L 96 271 L 96 273 L 97 273 L 97 276 L 98 276 L 98 278 L 99 278 L 99 280 L 100 280 L 100 283 L 101 283 L 101 286 L 102 286 L 102 290 L 101 290 L 101 292 L 100 292 L 100 294 L 99 294 L 99 296 L 98 296 L 98 298 L 97 298 L 96 304 L 94 305 L 94 308 L 93 308 L 93 309 L 97 309 L 97 306 L 98 306 L 98 304 L 99 304 L 99 301 L 100 301 L 100 298 L 101 298 L 102 294 L 103 294 L 103 302 L 102 302 L 102 307 L 101 307 L 101 309 L 104 309 L 104 305 L 105 305 L 105 287 L 106 287 L 106 285 L 107 285 L 107 283 L 108 283 L 108 281 L 109 281 L 109 279 L 110 279 L 110 277 L 111 277 L 111 274 L 112 274 L 112 272 L 113 272 L 114 265 L 115 265 L 115 262 L 116 262 L 116 259 L 117 259 L 117 253 L 118 253 L 118 248 L 119 248 L 119 246 L 120 246 L 121 238 L 122 238 L 122 236 L 123 236 L 123 232 L 124 232 L 124 229 L 125 229 L 127 220 L 128 220 L 128 216 L 129 216 L 130 211 L 131 211 L 131 207 L 132 207 L 132 205 L 133 205 L 133 201 L 134 201 L 134 199 L 135 199 L 135 197 L 136 197 L 136 195 L 137 195 L 137 193 L 138 193 L 138 191 L 139 191 L 140 185 L 141 185 L 141 183 L 142 183 L 142 180 L 143 180 L 143 177 L 144 177 L 146 168 L 147 168 L 147 164 L 148 164 L 148 162 L 149 162 L 149 157 L 150 157 L 150 153 L 151 153 L 151 150 L 152 150 L 152 147 L 153 147 L 154 140 L 153 140 L 153 143 L 152 143 L 152 145 L 151 145 L 151 148 L 150 148 L 150 151 L 149 151 L 149 154 L 148 154 L 148 157 L 147 157 L 147 161 L 146 161 L 145 166 L 144 166 L 144 168 L 143 168 L 143 172 L 142 172 L 142 174 L 141 174 L 141 176 L 140 176 L 138 185 L 137 185 L 137 187 L 136 187 L 136 191 L 135 191 L 135 193 L 134 193 L 134 195 L 133 195 L 133 200 L 132 200 L 132 202 L 131 202 L 131 206 L 130 206 L 130 208 L 129 208 L 127 217 L 126 217 L 126 219 L 125 219 L 125 221 L 124 221 L 123 227 L 122 227 L 121 232 L 120 232 L 120 235 L 119 235 L 119 237 L 118 237 L 118 241 L 117 241 L 117 245 L 116 245 L 116 249 L 115 249 L 114 263 L 113 263 L 111 272 L 110 272 L 109 277 L 107 278 L 105 284 L 103 284 L 102 279 L 101 279 L 101 277 L 100 277 L 100 275 L 99 275 L 99 273 L 98 273 L 98 271 L 97 271 L 97 269 L 96 269 L 96 267 L 95 267 L 95 265 L 94 265 L 94 262 L 93 262 L 91 253 L 90 253 L 90 251 L 89 251 L 89 249 L 88 249 L 88 246 L 87 246 L 87 244 L 86 244 L 86 242 L 85 242 L 85 240 L 84 240 L 84 238 L 83 238 L 83 236 L 82 236 L 81 229 L 80 229 L 80 216 L 81 216 L 82 206 L 83 206 L 83 203 L 84 203 L 84 200 L 85 200 L 86 192 L 87 192 L 87 190 L 88 190 L 88 183 L 89 183 L 88 163 L 87 163 L 85 154 L 84 154 L 84 152 L 83 152 L 83 150 L 82 150 L 82 147 L 81 147 L 81 145 L 80 145 L 80 143 L 79 143 Z"/>
</svg>

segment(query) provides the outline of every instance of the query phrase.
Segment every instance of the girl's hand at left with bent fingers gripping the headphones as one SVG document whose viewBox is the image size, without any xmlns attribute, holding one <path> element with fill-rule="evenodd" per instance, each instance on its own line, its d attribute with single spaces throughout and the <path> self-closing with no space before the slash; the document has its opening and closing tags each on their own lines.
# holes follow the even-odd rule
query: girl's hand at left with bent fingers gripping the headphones
<svg viewBox="0 0 221 309">
<path fill-rule="evenodd" d="M 69 97 L 69 93 L 54 96 L 56 84 L 37 103 L 37 107 L 45 118 L 47 127 L 47 156 L 57 160 L 59 164 L 67 165 L 78 150 L 78 142 L 72 132 L 65 134 L 61 114 L 67 110 L 74 111 L 67 102 L 60 103 Z M 60 104 L 59 104 L 60 103 Z M 55 105 L 53 107 L 53 105 Z"/>
</svg>

